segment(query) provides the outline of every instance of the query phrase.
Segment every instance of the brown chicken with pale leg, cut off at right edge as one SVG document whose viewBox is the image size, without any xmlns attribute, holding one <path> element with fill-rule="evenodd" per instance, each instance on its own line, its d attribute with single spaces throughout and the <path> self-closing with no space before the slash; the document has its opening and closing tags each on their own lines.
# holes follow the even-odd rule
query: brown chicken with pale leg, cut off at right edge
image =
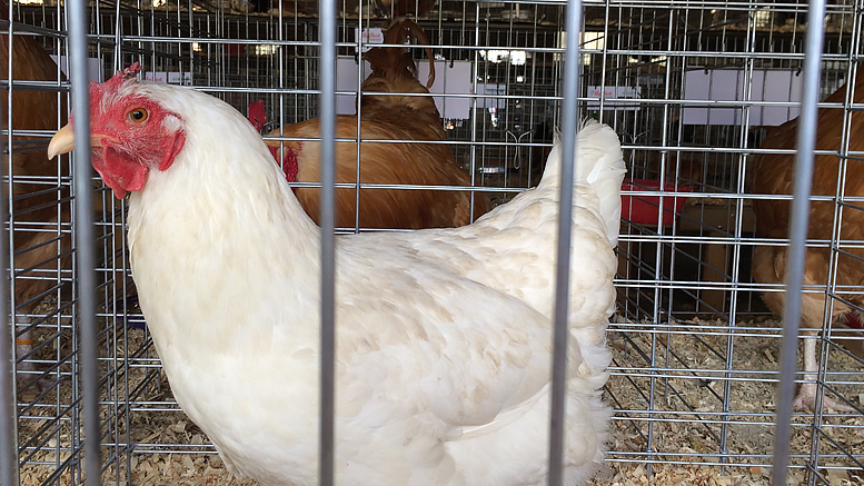
<svg viewBox="0 0 864 486">
<path fill-rule="evenodd" d="M 864 102 L 864 69 L 858 70 L 855 80 L 854 102 Z M 825 101 L 843 102 L 846 99 L 846 88 L 840 88 Z M 822 108 L 818 110 L 816 129 L 816 149 L 838 151 L 842 149 L 842 136 L 844 127 L 844 110 L 836 108 Z M 762 143 L 763 149 L 795 149 L 798 119 L 789 120 L 772 130 Z M 864 113 L 851 112 L 848 133 L 853 136 L 848 140 L 850 151 L 864 150 Z M 753 160 L 752 188 L 754 194 L 763 195 L 791 195 L 794 173 L 795 157 L 793 155 L 758 155 Z M 836 155 L 817 155 L 813 173 L 814 196 L 835 196 L 837 191 L 837 172 L 840 158 Z M 864 196 L 864 161 L 850 158 L 846 162 L 845 196 Z M 854 204 L 857 206 L 858 204 Z M 753 202 L 756 214 L 756 232 L 763 238 L 788 238 L 789 201 L 775 199 L 756 199 Z M 834 211 L 836 206 L 831 201 L 814 201 L 810 208 L 810 229 L 807 238 L 830 240 L 834 231 Z M 842 240 L 864 239 L 864 211 L 855 207 L 846 207 L 843 210 L 840 238 Z M 762 284 L 782 284 L 785 281 L 787 247 L 756 246 L 753 250 L 753 278 Z M 848 247 L 843 252 L 837 252 L 837 289 L 847 286 L 861 287 L 864 285 L 864 249 Z M 804 285 L 825 286 L 828 281 L 831 269 L 831 250 L 828 248 L 808 248 L 805 259 Z M 862 296 L 855 294 L 842 294 L 843 299 L 856 306 L 864 304 Z M 763 292 L 763 300 L 776 315 L 782 315 L 784 292 Z M 825 295 L 822 292 L 805 292 L 802 295 L 802 320 L 805 328 L 812 329 L 815 335 L 822 329 L 823 313 L 825 309 Z M 832 320 L 836 324 L 845 324 L 848 327 L 860 328 L 861 320 L 855 309 L 834 300 L 832 307 Z M 832 329 L 832 338 L 838 340 L 858 356 L 862 356 L 862 335 L 858 331 Z M 816 361 L 816 339 L 805 339 L 804 346 L 804 373 L 805 379 L 815 381 L 818 364 Z M 797 408 L 813 409 L 816 399 L 816 384 L 802 385 L 798 396 L 795 398 Z M 823 406 L 835 409 L 847 409 L 845 405 L 837 404 L 827 396 L 823 399 Z"/>
</svg>

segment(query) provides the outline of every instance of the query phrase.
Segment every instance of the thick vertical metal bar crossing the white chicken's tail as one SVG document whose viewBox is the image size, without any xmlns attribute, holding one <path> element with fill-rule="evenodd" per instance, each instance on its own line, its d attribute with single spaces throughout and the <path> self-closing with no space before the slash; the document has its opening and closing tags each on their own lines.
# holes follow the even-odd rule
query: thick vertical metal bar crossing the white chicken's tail
<svg viewBox="0 0 864 486">
<path fill-rule="evenodd" d="M 563 479 L 565 443 L 565 395 L 567 379 L 567 305 L 570 269 L 570 222 L 573 220 L 573 161 L 576 158 L 577 105 L 579 96 L 579 30 L 582 1 L 569 0 L 566 14 L 566 51 L 562 102 L 562 171 L 558 248 L 555 267 L 555 310 L 552 357 L 552 410 L 549 414 L 549 485 Z"/>
</svg>

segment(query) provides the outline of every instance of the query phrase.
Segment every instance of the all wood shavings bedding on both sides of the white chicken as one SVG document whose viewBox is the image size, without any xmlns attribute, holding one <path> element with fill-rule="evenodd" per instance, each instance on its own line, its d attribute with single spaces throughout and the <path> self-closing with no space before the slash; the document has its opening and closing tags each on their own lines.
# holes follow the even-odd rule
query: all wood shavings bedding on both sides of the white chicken
<svg viewBox="0 0 864 486">
<path fill-rule="evenodd" d="M 614 366 L 622 369 L 614 373 L 605 395 L 618 411 L 612 423 L 609 460 L 592 485 L 769 484 L 773 447 L 769 423 L 775 410 L 775 385 L 767 380 L 774 376 L 764 371 L 777 369 L 778 323 L 738 323 L 746 333 L 732 338 L 728 359 L 729 333 L 735 328 L 723 321 L 694 320 L 692 324 L 693 333 L 679 334 L 658 333 L 658 327 L 632 323 L 629 327 L 610 330 Z M 145 336 L 141 329 L 129 329 L 126 333 L 129 351 L 118 349 L 117 354 L 133 355 L 146 345 Z M 152 349 L 149 353 L 153 356 Z M 836 388 L 862 406 L 864 368 L 861 364 L 841 353 L 832 353 L 828 370 L 848 371 L 848 376 L 834 377 L 850 383 L 836 385 Z M 129 389 L 136 389 L 148 373 L 150 383 L 141 395 L 141 399 L 148 401 L 133 404 L 128 413 L 130 442 L 137 447 L 137 452 L 128 456 L 129 482 L 126 480 L 127 456 L 122 452 L 119 452 L 121 459 L 109 466 L 103 478 L 115 484 L 119 466 L 120 485 L 254 485 L 227 474 L 212 448 L 206 446 L 206 436 L 181 411 L 147 409 L 165 408 L 162 404 L 172 399 L 167 380 L 161 374 L 153 375 L 155 368 L 129 368 Z M 60 403 L 71 399 L 69 379 L 63 381 L 60 395 Z M 724 399 L 726 396 L 728 398 Z M 51 400 L 56 401 L 57 396 L 43 397 L 42 401 Z M 54 410 L 51 407 L 30 410 L 29 416 L 44 414 L 46 419 L 19 420 L 21 439 L 44 436 L 38 430 L 46 427 Z M 122 410 L 119 413 L 123 414 Z M 69 457 L 68 450 L 53 448 L 57 440 L 66 444 L 70 440 L 69 416 L 64 418 L 67 420 L 57 427 L 52 439 L 46 443 L 44 450 L 33 456 L 34 460 L 53 464 L 26 465 L 21 469 L 23 485 L 42 484 L 57 469 L 56 464 Z M 125 424 L 125 419 L 121 417 L 119 421 Z M 798 457 L 792 459 L 794 468 L 789 470 L 788 484 L 805 482 L 802 466 L 814 438 L 813 428 L 806 425 L 812 420 L 811 415 L 795 416 L 795 424 L 801 426 L 794 428 L 791 447 Z M 821 474 L 832 485 L 864 485 L 864 473 L 845 457 L 845 452 L 852 452 L 862 460 L 864 417 L 827 414 L 818 430 Z M 123 426 L 118 430 L 120 442 L 125 434 Z M 644 462 L 648 446 L 655 462 L 651 470 Z M 103 450 L 107 453 L 108 449 Z M 169 452 L 179 449 L 189 453 Z M 723 468 L 716 464 L 723 460 L 724 452 L 732 455 L 726 457 L 736 465 Z M 64 472 L 57 484 L 72 484 L 70 476 Z"/>
</svg>

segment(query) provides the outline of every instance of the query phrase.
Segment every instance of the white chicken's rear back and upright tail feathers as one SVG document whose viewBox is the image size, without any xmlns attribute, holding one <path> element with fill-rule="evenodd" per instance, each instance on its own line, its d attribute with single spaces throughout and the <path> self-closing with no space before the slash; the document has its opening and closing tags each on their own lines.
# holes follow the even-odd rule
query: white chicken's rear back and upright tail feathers
<svg viewBox="0 0 864 486">
<path fill-rule="evenodd" d="M 620 221 L 620 184 L 625 173 L 620 142 L 612 128 L 588 122 L 579 131 L 574 186 L 569 321 L 586 356 L 605 368 L 606 316 L 615 290 L 613 248 Z M 405 254 L 446 268 L 527 302 L 552 318 L 558 232 L 560 143 L 556 143 L 537 188 L 498 206 L 456 230 L 365 235 L 363 242 L 387 255 Z M 437 236 L 436 236 L 437 235 Z M 594 349 L 594 350 L 590 350 Z"/>
</svg>

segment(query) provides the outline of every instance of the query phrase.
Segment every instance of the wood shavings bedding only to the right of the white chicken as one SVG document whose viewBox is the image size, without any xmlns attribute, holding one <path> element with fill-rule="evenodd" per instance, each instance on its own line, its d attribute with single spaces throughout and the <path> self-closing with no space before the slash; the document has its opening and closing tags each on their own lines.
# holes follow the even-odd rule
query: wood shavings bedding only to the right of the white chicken
<svg viewBox="0 0 864 486">
<path fill-rule="evenodd" d="M 683 463 L 654 464 L 654 484 L 769 484 L 779 327 L 771 319 L 739 321 L 736 327 L 695 319 L 671 326 L 674 334 L 663 333 L 662 326 L 614 326 L 609 344 L 614 366 L 620 369 L 606 393 L 618 410 L 610 472 L 593 484 L 644 484 L 633 474 L 647 475 L 646 464 L 637 460 L 647 457 L 647 450 L 655 462 Z M 837 350 L 827 363 L 838 395 L 864 406 L 862 364 Z M 791 450 L 796 457 L 789 484 L 804 482 L 814 440 L 818 470 L 831 484 L 864 484 L 864 473 L 848 457 L 863 458 L 864 417 L 826 410 L 816 428 L 811 427 L 813 419 L 804 413 L 794 417 Z M 724 458 L 734 465 L 722 467 Z M 676 476 L 684 473 L 696 476 Z"/>
</svg>

